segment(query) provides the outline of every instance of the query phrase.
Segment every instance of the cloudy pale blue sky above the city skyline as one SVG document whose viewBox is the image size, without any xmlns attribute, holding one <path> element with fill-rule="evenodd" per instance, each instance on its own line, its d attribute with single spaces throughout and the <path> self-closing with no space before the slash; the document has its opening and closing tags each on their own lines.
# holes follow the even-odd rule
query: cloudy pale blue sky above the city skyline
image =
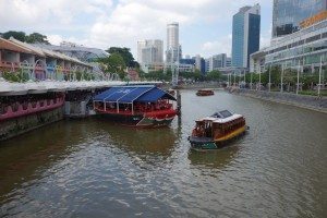
<svg viewBox="0 0 327 218">
<path fill-rule="evenodd" d="M 162 39 L 179 22 L 184 55 L 231 53 L 232 16 L 241 7 L 262 7 L 261 47 L 271 37 L 272 0 L 0 0 L 0 33 L 44 34 L 85 47 L 128 47 L 136 59 L 137 40 Z"/>
</svg>

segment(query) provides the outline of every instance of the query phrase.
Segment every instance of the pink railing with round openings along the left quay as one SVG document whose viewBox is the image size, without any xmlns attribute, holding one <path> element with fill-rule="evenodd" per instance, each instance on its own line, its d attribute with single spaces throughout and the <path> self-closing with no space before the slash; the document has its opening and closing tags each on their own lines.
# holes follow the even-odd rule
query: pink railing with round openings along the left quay
<svg viewBox="0 0 327 218">
<path fill-rule="evenodd" d="M 0 121 L 17 118 L 35 112 L 46 111 L 63 106 L 64 97 L 55 99 L 43 99 L 31 102 L 14 102 L 10 106 L 0 107 Z"/>
</svg>

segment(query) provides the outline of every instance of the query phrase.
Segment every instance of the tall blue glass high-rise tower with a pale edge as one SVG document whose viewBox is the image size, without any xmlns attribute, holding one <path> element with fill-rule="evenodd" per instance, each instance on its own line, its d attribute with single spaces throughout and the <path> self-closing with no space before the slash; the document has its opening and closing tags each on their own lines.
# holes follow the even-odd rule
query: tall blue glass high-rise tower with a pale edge
<svg viewBox="0 0 327 218">
<path fill-rule="evenodd" d="M 249 68 L 250 55 L 259 49 L 261 7 L 243 7 L 233 15 L 232 66 Z"/>
</svg>

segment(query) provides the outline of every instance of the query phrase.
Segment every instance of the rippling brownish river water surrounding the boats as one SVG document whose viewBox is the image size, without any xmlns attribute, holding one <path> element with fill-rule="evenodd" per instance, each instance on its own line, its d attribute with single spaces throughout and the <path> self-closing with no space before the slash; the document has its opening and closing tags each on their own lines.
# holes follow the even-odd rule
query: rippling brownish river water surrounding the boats
<svg viewBox="0 0 327 218">
<path fill-rule="evenodd" d="M 327 217 L 327 114 L 182 93 L 170 128 L 61 121 L 0 143 L 0 217 Z M 191 152 L 194 120 L 245 116 L 246 135 Z"/>
</svg>

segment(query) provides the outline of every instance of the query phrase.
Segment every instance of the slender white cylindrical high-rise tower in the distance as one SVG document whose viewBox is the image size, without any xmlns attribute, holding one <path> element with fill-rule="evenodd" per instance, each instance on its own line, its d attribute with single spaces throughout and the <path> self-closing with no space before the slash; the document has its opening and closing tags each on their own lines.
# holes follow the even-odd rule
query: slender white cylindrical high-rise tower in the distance
<svg viewBox="0 0 327 218">
<path fill-rule="evenodd" d="M 167 25 L 166 62 L 174 63 L 182 58 L 182 48 L 179 43 L 179 23 Z"/>
</svg>

